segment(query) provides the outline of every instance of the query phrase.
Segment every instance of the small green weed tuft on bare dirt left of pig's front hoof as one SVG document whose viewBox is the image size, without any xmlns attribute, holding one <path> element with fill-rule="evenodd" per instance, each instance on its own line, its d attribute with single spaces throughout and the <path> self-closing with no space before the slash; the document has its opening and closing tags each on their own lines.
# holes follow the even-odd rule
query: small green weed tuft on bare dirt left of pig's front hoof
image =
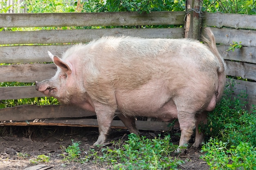
<svg viewBox="0 0 256 170">
<path fill-rule="evenodd" d="M 65 148 L 66 154 L 61 154 L 64 157 L 65 161 L 79 161 L 79 157 L 81 156 L 81 149 L 79 148 L 79 145 L 81 144 L 81 141 L 74 142 L 74 139 L 72 140 L 72 146 L 68 146 Z"/>
</svg>

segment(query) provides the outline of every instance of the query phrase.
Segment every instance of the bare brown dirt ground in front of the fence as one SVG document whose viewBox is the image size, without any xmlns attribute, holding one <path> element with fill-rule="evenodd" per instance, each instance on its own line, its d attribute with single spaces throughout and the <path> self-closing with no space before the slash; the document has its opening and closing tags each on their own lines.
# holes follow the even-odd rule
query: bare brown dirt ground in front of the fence
<svg viewBox="0 0 256 170">
<path fill-rule="evenodd" d="M 107 170 L 111 166 L 101 163 L 76 163 L 63 162 L 62 146 L 72 145 L 71 139 L 81 141 L 81 155 L 85 155 L 92 144 L 97 140 L 98 128 L 56 127 L 56 126 L 26 126 L 26 127 L 1 127 L 0 137 L 0 170 Z M 141 135 L 153 138 L 161 132 L 141 132 Z M 119 140 L 128 137 L 126 129 L 112 129 L 109 132 L 108 141 Z M 172 135 L 172 134 L 171 134 Z M 179 138 L 171 136 L 174 144 Z M 23 156 L 18 156 L 22 153 Z M 47 155 L 50 161 L 47 163 L 31 164 L 29 159 L 35 159 L 37 155 Z M 205 161 L 199 159 L 202 155 L 199 150 L 186 150 L 183 155 L 177 155 L 178 159 L 185 161 L 178 167 L 181 170 L 209 170 Z"/>
</svg>

